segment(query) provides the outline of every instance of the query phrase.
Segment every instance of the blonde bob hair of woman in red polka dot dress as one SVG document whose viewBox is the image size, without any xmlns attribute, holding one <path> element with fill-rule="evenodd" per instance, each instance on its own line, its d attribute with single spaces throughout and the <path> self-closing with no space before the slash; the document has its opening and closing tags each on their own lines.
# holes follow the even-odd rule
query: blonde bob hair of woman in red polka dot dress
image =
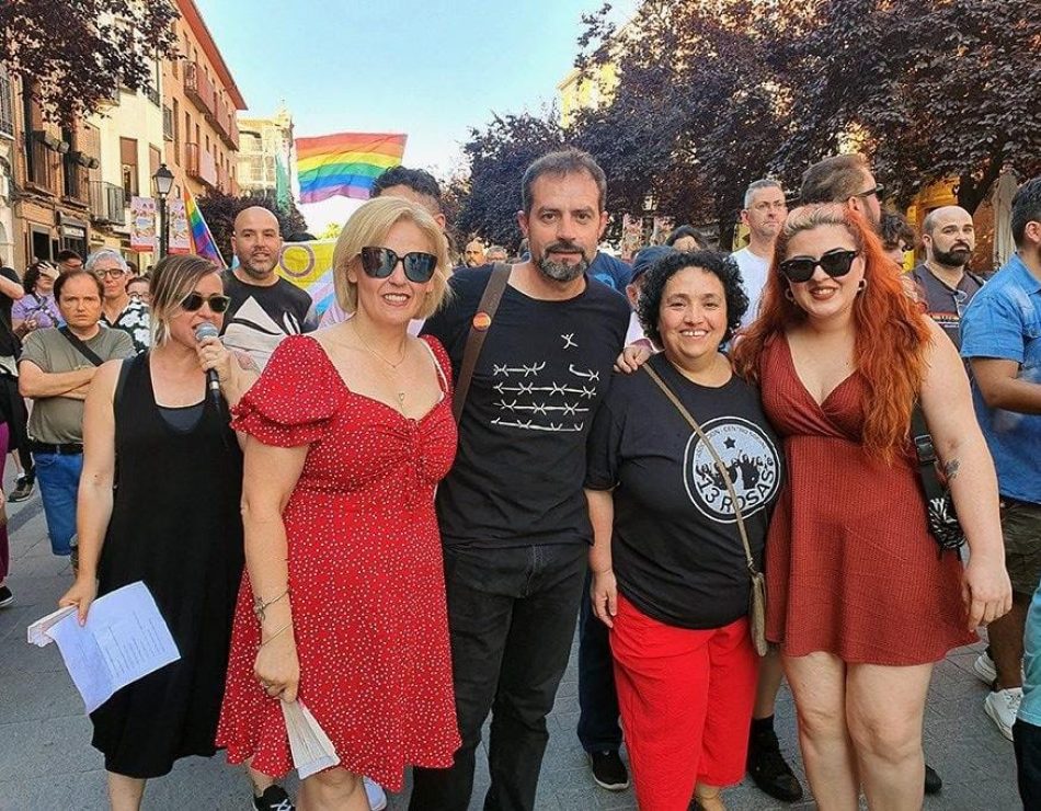
<svg viewBox="0 0 1041 811">
<path fill-rule="evenodd" d="M 426 237 L 427 250 L 437 256 L 437 266 L 430 281 L 430 293 L 420 306 L 415 318 L 430 318 L 444 304 L 448 295 L 448 241 L 437 222 L 423 206 L 400 197 L 377 197 L 358 208 L 340 233 L 332 255 L 333 285 L 336 290 L 336 304 L 344 312 L 354 312 L 358 308 L 358 286 L 347 278 L 347 271 L 362 270 L 362 249 L 381 247 L 390 229 L 400 221 L 412 222 Z"/>
</svg>

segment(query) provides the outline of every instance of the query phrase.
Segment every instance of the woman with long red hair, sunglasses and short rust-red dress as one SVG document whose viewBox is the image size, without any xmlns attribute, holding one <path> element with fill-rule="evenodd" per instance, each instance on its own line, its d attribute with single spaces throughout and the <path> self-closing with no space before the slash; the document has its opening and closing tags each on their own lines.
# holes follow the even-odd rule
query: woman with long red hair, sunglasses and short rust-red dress
<svg viewBox="0 0 1041 811">
<path fill-rule="evenodd" d="M 997 482 L 953 344 L 881 242 L 838 205 L 792 212 L 758 320 L 734 352 L 785 439 L 766 542 L 781 646 L 820 808 L 922 807 L 933 664 L 1009 609 Z M 920 403 L 972 550 L 938 553 L 910 442 Z"/>
</svg>

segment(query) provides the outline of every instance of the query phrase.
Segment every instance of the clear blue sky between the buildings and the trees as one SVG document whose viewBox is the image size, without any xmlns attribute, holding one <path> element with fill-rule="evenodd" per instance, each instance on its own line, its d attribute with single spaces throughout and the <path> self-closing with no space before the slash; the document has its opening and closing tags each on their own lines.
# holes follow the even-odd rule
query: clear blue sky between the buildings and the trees
<svg viewBox="0 0 1041 811">
<path fill-rule="evenodd" d="M 408 133 L 404 163 L 445 176 L 468 128 L 537 112 L 600 0 L 196 0 L 250 113 L 284 99 L 296 135 Z M 618 0 L 624 18 L 637 0 Z M 350 204 L 308 206 L 312 229 Z M 342 221 L 342 220 L 341 220 Z"/>
</svg>

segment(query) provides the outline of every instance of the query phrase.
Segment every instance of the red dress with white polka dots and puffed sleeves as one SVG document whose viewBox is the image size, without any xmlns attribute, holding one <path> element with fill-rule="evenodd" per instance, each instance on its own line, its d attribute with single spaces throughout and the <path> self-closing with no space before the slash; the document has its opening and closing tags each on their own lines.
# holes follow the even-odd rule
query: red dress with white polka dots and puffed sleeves
<svg viewBox="0 0 1041 811">
<path fill-rule="evenodd" d="M 450 378 L 448 357 L 424 338 Z M 310 445 L 283 518 L 288 541 L 299 699 L 341 766 L 391 791 L 409 764 L 451 765 L 451 689 L 437 482 L 451 467 L 451 391 L 420 420 L 350 391 L 312 338 L 279 344 L 234 409 L 267 445 Z M 278 699 L 253 677 L 260 625 L 243 575 L 217 743 L 230 763 L 281 777 L 293 768 Z"/>
</svg>

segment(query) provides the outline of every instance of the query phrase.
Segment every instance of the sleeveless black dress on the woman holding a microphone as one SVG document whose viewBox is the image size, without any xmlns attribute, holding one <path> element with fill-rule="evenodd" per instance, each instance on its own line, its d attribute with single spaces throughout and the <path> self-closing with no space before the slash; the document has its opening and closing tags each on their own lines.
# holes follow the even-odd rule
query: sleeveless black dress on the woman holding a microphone
<svg viewBox="0 0 1041 811">
<path fill-rule="evenodd" d="M 124 364 L 98 594 L 145 581 L 181 659 L 117 692 L 91 721 L 105 768 L 148 778 L 179 757 L 216 752 L 243 566 L 242 455 L 227 412 L 208 397 L 195 425 L 178 431 L 156 404 L 149 353 Z"/>
</svg>

